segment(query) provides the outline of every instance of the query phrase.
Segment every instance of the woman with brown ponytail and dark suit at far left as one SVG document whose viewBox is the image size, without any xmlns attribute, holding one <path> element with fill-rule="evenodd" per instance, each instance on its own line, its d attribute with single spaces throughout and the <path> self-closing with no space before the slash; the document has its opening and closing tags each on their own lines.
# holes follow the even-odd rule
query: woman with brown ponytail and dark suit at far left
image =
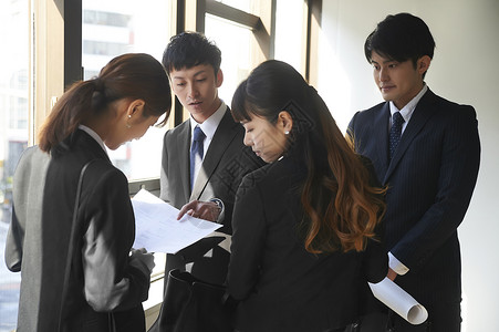
<svg viewBox="0 0 499 332">
<path fill-rule="evenodd" d="M 6 262 L 22 277 L 18 331 L 145 331 L 154 258 L 132 249 L 128 183 L 105 146 L 142 137 L 170 107 L 162 64 L 138 53 L 58 101 L 13 178 Z"/>
</svg>

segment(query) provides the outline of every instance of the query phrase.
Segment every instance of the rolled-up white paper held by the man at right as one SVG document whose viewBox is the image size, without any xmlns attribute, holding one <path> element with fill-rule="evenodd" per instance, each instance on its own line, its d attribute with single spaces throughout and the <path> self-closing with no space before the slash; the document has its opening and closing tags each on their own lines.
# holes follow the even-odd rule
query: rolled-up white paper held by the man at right
<svg viewBox="0 0 499 332">
<path fill-rule="evenodd" d="M 368 283 L 373 294 L 407 322 L 417 325 L 422 324 L 428 318 L 425 307 L 419 304 L 410 294 L 403 290 L 398 284 L 383 279 L 378 283 Z"/>
</svg>

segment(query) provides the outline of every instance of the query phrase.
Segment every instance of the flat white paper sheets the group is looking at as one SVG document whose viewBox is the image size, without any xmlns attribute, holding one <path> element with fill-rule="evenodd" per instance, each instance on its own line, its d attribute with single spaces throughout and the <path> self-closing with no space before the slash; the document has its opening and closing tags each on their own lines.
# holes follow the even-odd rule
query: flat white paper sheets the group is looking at
<svg viewBox="0 0 499 332">
<path fill-rule="evenodd" d="M 178 209 L 145 189 L 132 198 L 132 205 L 135 212 L 135 249 L 176 253 L 222 226 L 187 215 L 177 220 Z"/>
</svg>

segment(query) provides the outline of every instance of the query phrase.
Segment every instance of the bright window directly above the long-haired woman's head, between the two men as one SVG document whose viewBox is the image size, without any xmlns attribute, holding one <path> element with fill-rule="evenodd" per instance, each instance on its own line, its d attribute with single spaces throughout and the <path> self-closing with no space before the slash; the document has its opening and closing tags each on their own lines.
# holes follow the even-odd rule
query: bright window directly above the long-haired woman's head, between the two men
<svg viewBox="0 0 499 332">
<path fill-rule="evenodd" d="M 285 61 L 305 74 L 306 1 L 277 0 L 276 7 L 272 7 L 269 1 L 220 0 L 215 3 L 207 1 L 206 7 L 205 27 L 198 30 L 204 31 L 221 50 L 223 84 L 219 94 L 228 105 L 239 83 L 267 59 Z M 272 10 L 276 11 L 274 17 L 268 14 Z M 269 31 L 263 31 L 267 28 Z M 263 33 L 268 34 L 267 39 L 261 35 Z"/>
</svg>

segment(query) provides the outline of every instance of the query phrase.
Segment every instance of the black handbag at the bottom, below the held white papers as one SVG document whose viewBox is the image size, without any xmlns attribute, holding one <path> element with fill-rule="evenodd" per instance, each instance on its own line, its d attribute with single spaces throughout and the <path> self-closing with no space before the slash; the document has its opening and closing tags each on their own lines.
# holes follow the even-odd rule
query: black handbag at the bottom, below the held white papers
<svg viewBox="0 0 499 332">
<path fill-rule="evenodd" d="M 226 299 L 226 288 L 204 282 L 178 269 L 168 273 L 160 332 L 232 332 L 236 305 Z"/>
</svg>

